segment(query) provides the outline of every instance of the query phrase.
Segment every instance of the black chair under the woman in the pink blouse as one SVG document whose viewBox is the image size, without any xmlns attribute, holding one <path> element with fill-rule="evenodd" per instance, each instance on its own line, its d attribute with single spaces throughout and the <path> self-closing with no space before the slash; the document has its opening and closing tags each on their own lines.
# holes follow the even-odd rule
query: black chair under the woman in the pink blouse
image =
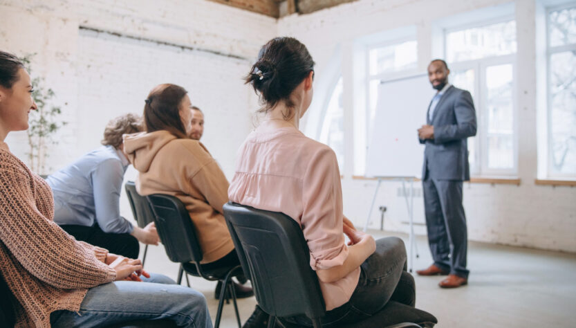
<svg viewBox="0 0 576 328">
<path fill-rule="evenodd" d="M 301 314 L 310 318 L 314 327 L 322 327 L 324 298 L 297 222 L 279 212 L 230 202 L 224 205 L 224 217 L 263 311 L 279 318 L 285 327 L 292 325 L 281 318 Z M 271 318 L 268 327 L 274 327 L 276 321 Z M 425 311 L 391 301 L 371 318 L 346 327 L 433 327 L 436 322 Z"/>
</svg>

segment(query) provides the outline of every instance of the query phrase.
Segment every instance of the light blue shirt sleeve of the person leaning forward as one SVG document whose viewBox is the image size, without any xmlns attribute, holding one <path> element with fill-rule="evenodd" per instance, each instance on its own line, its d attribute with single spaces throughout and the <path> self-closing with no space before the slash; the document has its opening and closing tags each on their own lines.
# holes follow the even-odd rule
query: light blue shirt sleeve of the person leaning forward
<svg viewBox="0 0 576 328">
<path fill-rule="evenodd" d="M 96 221 L 104 233 L 131 233 L 132 224 L 120 216 L 120 190 L 124 167 L 113 159 L 103 161 L 91 174 Z"/>
</svg>

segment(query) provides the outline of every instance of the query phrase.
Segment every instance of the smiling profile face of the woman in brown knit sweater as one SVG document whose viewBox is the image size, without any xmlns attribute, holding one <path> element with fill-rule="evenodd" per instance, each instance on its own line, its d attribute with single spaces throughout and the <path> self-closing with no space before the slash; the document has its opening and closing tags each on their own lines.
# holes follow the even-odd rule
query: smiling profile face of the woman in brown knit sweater
<svg viewBox="0 0 576 328">
<path fill-rule="evenodd" d="M 0 122 L 7 131 L 28 129 L 28 114 L 37 109 L 32 100 L 32 84 L 30 75 L 25 69 L 19 69 L 18 80 L 12 88 L 0 86 Z"/>
</svg>

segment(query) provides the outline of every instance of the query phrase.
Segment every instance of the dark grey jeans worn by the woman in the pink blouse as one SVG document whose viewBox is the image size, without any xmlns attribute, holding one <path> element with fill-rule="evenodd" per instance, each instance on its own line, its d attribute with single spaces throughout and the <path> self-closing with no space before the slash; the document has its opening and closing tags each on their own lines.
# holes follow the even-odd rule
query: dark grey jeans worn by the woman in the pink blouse
<svg viewBox="0 0 576 328">
<path fill-rule="evenodd" d="M 349 302 L 326 312 L 322 327 L 339 327 L 359 322 L 378 313 L 389 300 L 414 307 L 416 286 L 406 272 L 406 249 L 402 239 L 376 240 L 376 250 L 360 266 L 360 279 Z M 305 327 L 312 322 L 306 316 L 284 318 Z"/>
</svg>

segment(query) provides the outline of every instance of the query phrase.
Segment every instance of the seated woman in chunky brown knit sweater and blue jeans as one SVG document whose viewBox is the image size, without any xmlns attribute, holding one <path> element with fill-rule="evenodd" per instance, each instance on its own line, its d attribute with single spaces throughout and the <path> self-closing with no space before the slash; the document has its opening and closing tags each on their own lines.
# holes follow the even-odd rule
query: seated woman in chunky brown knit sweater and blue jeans
<svg viewBox="0 0 576 328">
<path fill-rule="evenodd" d="M 0 51 L 0 268 L 15 296 L 16 327 L 101 327 L 139 319 L 212 327 L 201 293 L 162 275 L 150 277 L 139 259 L 77 242 L 53 222 L 50 187 L 3 142 L 10 131 L 28 129 L 35 109 L 24 66 Z M 140 282 L 140 274 L 149 282 Z"/>
</svg>

